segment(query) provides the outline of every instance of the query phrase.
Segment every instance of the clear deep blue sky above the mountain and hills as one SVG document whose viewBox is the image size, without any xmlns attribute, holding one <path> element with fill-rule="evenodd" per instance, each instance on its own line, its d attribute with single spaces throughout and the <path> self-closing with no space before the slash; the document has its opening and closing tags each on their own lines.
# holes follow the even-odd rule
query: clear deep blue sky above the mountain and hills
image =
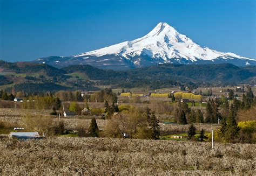
<svg viewBox="0 0 256 176">
<path fill-rule="evenodd" d="M 69 56 L 166 22 L 194 42 L 256 59 L 256 1 L 0 0 L 0 60 Z"/>
</svg>

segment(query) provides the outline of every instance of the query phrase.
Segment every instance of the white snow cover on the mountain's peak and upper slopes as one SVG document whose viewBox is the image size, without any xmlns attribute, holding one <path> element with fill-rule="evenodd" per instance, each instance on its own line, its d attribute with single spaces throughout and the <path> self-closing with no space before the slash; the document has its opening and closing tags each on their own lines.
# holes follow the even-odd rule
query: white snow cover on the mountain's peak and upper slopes
<svg viewBox="0 0 256 176">
<path fill-rule="evenodd" d="M 76 55 L 76 57 L 84 55 L 102 56 L 106 54 L 116 54 L 127 59 L 135 55 L 146 54 L 151 58 L 162 58 L 165 61 L 170 61 L 172 58 L 185 58 L 192 62 L 198 59 L 213 60 L 218 57 L 223 59 L 248 59 L 233 53 L 222 53 L 207 47 L 201 47 L 167 23 L 159 23 L 142 38 L 82 53 Z"/>
</svg>

